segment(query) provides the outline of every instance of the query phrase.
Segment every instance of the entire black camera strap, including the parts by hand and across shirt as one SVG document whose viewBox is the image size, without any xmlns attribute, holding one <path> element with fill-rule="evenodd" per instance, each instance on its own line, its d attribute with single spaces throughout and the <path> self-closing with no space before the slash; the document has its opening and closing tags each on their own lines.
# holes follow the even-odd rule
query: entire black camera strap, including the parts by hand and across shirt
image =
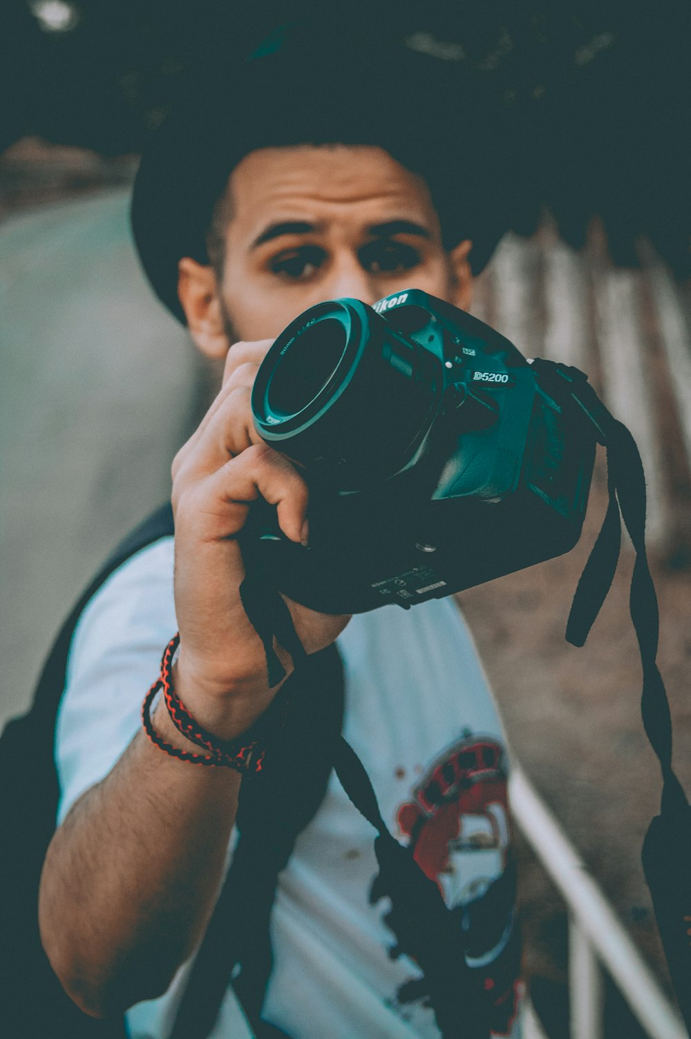
<svg viewBox="0 0 691 1039">
<path fill-rule="evenodd" d="M 582 646 L 611 587 L 621 543 L 621 518 L 636 552 L 631 582 L 631 618 L 638 640 L 643 684 L 643 726 L 662 770 L 660 815 L 648 828 L 643 845 L 643 868 L 670 975 L 687 1028 L 691 1028 L 691 807 L 672 769 L 671 716 L 662 676 L 657 666 L 658 602 L 645 552 L 645 479 L 636 443 L 599 399 L 587 377 L 577 368 L 536 358 L 532 362 L 538 384 L 562 408 L 578 405 L 586 435 L 607 452 L 609 503 L 605 520 L 579 581 L 566 627 L 566 639 Z M 263 572 L 259 556 L 248 560 L 241 588 L 247 616 L 260 635 L 269 681 L 277 685 L 285 674 L 274 650 L 275 639 L 297 665 L 304 650 L 290 612 L 271 576 Z M 358 811 L 377 831 L 375 851 L 380 875 L 373 890 L 392 898 L 396 931 L 403 935 L 402 950 L 422 967 L 430 1002 L 445 1039 L 458 1034 L 475 1039 L 487 1036 L 485 1000 L 466 963 L 462 936 L 436 885 L 415 862 L 409 849 L 390 833 L 381 817 L 369 777 L 352 748 L 340 738 L 335 752 L 339 779 Z M 440 950 L 444 953 L 440 955 Z M 459 1024 L 462 1022 L 462 1025 Z"/>
</svg>

